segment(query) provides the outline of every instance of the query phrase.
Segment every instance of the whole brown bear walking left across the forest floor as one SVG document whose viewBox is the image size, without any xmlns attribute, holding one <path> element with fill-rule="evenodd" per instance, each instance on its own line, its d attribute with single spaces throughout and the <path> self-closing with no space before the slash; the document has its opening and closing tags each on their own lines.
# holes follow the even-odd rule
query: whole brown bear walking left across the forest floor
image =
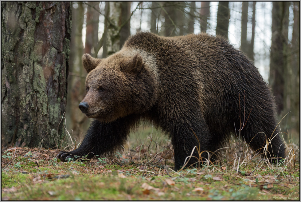
<svg viewBox="0 0 301 202">
<path fill-rule="evenodd" d="M 253 63 L 224 38 L 205 33 L 162 37 L 138 33 L 105 58 L 82 57 L 88 75 L 80 110 L 93 118 L 80 147 L 57 157 L 92 158 L 120 148 L 130 129 L 151 120 L 169 135 L 175 170 L 193 148 L 214 152 L 240 134 L 269 159 L 284 158 L 275 104 Z M 198 157 L 197 149 L 193 156 Z M 208 158 L 207 152 L 202 157 Z M 187 165 L 198 162 L 192 157 Z"/>
</svg>

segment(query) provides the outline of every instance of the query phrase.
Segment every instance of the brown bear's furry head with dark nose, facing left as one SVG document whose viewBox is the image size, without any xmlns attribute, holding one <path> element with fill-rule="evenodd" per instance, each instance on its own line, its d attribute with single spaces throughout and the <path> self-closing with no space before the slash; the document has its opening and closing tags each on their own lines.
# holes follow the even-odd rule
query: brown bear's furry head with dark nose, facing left
<svg viewBox="0 0 301 202">
<path fill-rule="evenodd" d="M 82 61 L 88 75 L 86 96 L 79 108 L 87 117 L 111 122 L 143 113 L 154 104 L 156 81 L 141 54 L 115 53 L 105 59 L 84 54 Z"/>
</svg>

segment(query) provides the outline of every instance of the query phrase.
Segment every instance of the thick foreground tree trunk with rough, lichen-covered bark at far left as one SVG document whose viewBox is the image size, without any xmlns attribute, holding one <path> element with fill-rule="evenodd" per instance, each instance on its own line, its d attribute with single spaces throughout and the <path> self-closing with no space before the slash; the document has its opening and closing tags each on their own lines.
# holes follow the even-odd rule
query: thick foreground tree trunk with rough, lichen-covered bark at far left
<svg viewBox="0 0 301 202">
<path fill-rule="evenodd" d="M 65 135 L 70 2 L 1 3 L 2 144 L 54 147 Z"/>
</svg>

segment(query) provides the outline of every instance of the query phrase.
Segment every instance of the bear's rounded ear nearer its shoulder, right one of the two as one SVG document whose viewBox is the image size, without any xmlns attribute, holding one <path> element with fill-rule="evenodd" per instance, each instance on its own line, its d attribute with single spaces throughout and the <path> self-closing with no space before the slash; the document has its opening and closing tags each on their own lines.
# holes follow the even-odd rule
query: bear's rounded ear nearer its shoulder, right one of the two
<svg viewBox="0 0 301 202">
<path fill-rule="evenodd" d="M 136 53 L 130 59 L 124 60 L 120 64 L 122 72 L 139 73 L 142 69 L 143 59 L 139 53 Z"/>
</svg>

